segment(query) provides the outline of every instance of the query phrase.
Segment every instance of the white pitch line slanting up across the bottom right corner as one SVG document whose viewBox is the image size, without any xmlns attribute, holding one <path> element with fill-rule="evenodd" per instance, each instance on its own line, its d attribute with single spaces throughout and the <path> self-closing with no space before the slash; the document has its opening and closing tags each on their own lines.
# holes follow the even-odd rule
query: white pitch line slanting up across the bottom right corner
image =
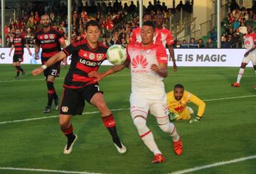
<svg viewBox="0 0 256 174">
<path fill-rule="evenodd" d="M 256 158 L 256 155 L 254 155 L 254 156 L 246 156 L 246 157 L 243 157 L 243 158 L 237 158 L 237 159 L 233 159 L 233 160 L 230 160 L 230 161 L 221 161 L 221 162 L 212 163 L 212 164 L 209 164 L 209 165 L 201 165 L 201 166 L 196 166 L 194 168 L 188 168 L 188 169 L 185 169 L 185 170 L 178 170 L 178 171 L 170 173 L 170 174 L 189 173 L 189 172 L 194 172 L 194 171 L 197 171 L 197 170 L 203 170 L 203 169 L 206 169 L 206 168 L 214 168 L 214 167 L 219 166 L 219 165 L 226 165 L 226 164 L 231 164 L 231 163 L 239 163 L 241 161 L 247 161 L 247 160 L 251 160 L 251 159 L 255 159 L 255 158 Z"/>
</svg>

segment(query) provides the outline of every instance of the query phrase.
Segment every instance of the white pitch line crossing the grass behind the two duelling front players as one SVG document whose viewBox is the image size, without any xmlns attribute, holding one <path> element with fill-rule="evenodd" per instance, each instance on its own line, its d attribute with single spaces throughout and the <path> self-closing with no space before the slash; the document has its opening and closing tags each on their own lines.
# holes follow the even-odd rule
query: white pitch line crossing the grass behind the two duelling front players
<svg viewBox="0 0 256 174">
<path fill-rule="evenodd" d="M 247 96 L 238 96 L 238 97 L 224 97 L 224 98 L 218 98 L 218 99 L 203 99 L 205 102 L 212 102 L 212 101 L 218 101 L 218 100 L 225 100 L 225 99 L 241 99 L 241 98 L 247 98 L 247 97 L 256 97 L 256 95 L 247 95 Z M 123 110 L 129 110 L 129 108 L 119 108 L 119 109 L 111 109 L 112 112 L 115 111 L 123 111 Z M 83 112 L 82 114 L 97 114 L 100 112 Z M 42 117 L 36 117 L 33 119 L 19 119 L 19 120 L 13 120 L 13 121 L 1 121 L 0 124 L 10 124 L 10 123 L 18 123 L 23 121 L 33 121 L 38 119 L 52 119 L 56 118 L 58 115 L 54 116 L 42 116 Z"/>
</svg>

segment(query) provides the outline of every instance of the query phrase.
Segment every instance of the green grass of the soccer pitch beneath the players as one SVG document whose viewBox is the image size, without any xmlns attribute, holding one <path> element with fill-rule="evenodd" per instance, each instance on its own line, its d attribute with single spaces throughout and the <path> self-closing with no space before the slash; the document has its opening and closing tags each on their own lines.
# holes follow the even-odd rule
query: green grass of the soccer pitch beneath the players
<svg viewBox="0 0 256 174">
<path fill-rule="evenodd" d="M 11 65 L 0 65 L 0 122 L 57 116 L 54 109 L 43 114 L 47 92 L 43 75 L 30 75 L 35 65 L 22 65 L 25 77 L 14 80 L 16 71 Z M 100 71 L 108 67 L 103 66 Z M 68 67 L 63 68 L 55 80 L 55 89 L 62 92 L 63 78 Z M 245 70 L 241 87 L 232 88 L 239 68 L 228 67 L 179 67 L 169 70 L 165 80 L 166 92 L 176 83 L 201 99 L 218 99 L 256 95 L 255 75 L 252 68 Z M 100 82 L 105 100 L 114 111 L 117 131 L 127 153 L 119 154 L 110 134 L 102 124 L 99 113 L 73 117 L 78 141 L 73 153 L 63 155 L 66 138 L 59 129 L 58 117 L 35 121 L 0 124 L 0 167 L 42 168 L 48 170 L 87 171 L 92 173 L 171 173 L 199 165 L 256 155 L 255 113 L 256 97 L 224 99 L 206 102 L 206 112 L 199 124 L 175 121 L 183 141 L 183 154 L 176 156 L 171 137 L 159 129 L 154 116 L 149 116 L 148 126 L 156 143 L 166 157 L 166 163 L 151 164 L 153 154 L 139 138 L 129 114 L 130 76 L 123 70 Z M 197 112 L 193 104 L 190 107 Z M 86 104 L 84 112 L 97 109 Z M 255 173 L 256 159 L 242 161 L 193 173 Z M 0 173 L 38 173 L 0 170 Z"/>
</svg>

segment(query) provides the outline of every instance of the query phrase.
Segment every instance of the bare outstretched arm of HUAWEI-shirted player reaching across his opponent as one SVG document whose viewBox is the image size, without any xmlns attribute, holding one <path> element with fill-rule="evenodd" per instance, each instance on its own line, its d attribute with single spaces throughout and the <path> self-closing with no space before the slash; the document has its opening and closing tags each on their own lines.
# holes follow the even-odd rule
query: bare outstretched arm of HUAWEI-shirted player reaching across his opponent
<svg viewBox="0 0 256 174">
<path fill-rule="evenodd" d="M 124 69 L 124 67 L 129 66 L 129 60 L 125 60 L 125 62 L 122 65 L 115 65 L 114 67 L 111 67 L 109 70 L 105 71 L 105 72 L 96 72 L 96 71 L 92 71 L 88 73 L 89 77 L 96 77 L 97 79 L 95 80 L 95 82 L 102 80 L 104 77 L 106 77 L 107 75 L 112 75 L 115 72 L 119 72 L 122 69 Z"/>
</svg>

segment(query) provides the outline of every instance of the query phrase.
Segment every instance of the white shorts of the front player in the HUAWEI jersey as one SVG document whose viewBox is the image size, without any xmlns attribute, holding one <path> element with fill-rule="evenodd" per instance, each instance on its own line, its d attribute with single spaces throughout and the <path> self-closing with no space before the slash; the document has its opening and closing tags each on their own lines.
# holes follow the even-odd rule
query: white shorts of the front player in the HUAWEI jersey
<svg viewBox="0 0 256 174">
<path fill-rule="evenodd" d="M 156 116 L 156 118 L 164 118 L 168 116 L 165 93 L 161 94 L 159 99 L 150 99 L 149 95 L 132 93 L 130 95 L 130 104 L 132 119 L 138 115 L 146 118 L 149 112 Z"/>
</svg>

